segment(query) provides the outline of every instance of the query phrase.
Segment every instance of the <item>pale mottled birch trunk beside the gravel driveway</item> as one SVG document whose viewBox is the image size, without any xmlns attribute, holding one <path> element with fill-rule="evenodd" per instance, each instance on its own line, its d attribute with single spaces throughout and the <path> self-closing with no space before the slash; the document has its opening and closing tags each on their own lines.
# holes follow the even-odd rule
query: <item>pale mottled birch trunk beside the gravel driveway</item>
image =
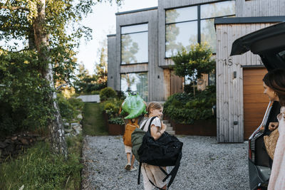
<svg viewBox="0 0 285 190">
<path fill-rule="evenodd" d="M 64 157 L 67 157 L 68 151 L 66 139 L 64 137 L 63 121 L 58 103 L 56 101 L 56 91 L 53 83 L 53 66 L 48 61 L 48 56 L 46 55 L 46 52 L 48 51 L 48 41 L 46 31 L 44 30 L 45 7 L 46 0 L 40 0 L 40 2 L 37 4 L 38 16 L 36 16 L 36 19 L 33 21 L 34 44 L 36 46 L 36 50 L 38 51 L 38 58 L 41 63 L 48 64 L 43 64 L 46 66 L 41 68 L 42 77 L 48 80 L 51 89 L 53 89 L 53 92 L 48 95 L 48 102 L 51 102 L 51 106 L 53 106 L 53 109 L 55 110 L 53 112 L 53 120 L 48 121 L 51 151 L 55 154 L 63 154 Z"/>
</svg>

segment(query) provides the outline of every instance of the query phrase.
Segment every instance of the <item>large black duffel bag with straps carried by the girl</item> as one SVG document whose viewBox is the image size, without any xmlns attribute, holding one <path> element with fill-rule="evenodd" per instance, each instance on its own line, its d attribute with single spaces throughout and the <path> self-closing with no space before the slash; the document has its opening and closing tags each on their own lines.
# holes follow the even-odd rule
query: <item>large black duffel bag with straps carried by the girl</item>
<svg viewBox="0 0 285 190">
<path fill-rule="evenodd" d="M 160 167 L 160 170 L 166 174 L 165 179 L 162 181 L 165 181 L 169 176 L 171 176 L 170 181 L 167 185 L 167 187 L 170 187 L 180 167 L 183 142 L 180 142 L 177 137 L 170 135 L 167 132 L 163 132 L 160 138 L 155 140 L 150 134 L 151 123 L 154 119 L 155 117 L 151 118 L 148 130 L 145 133 L 145 136 L 142 138 L 142 145 L 140 146 L 140 149 L 138 149 L 138 155 L 140 157 L 138 184 L 140 184 L 141 165 L 142 163 L 146 163 Z M 142 130 L 144 127 L 145 125 L 142 127 Z M 169 166 L 174 166 L 174 168 L 172 171 L 170 171 L 169 174 L 167 174 L 167 172 L 162 169 L 162 167 Z M 150 183 L 155 186 L 152 181 L 150 181 Z M 160 189 L 159 187 L 157 188 Z"/>
</svg>

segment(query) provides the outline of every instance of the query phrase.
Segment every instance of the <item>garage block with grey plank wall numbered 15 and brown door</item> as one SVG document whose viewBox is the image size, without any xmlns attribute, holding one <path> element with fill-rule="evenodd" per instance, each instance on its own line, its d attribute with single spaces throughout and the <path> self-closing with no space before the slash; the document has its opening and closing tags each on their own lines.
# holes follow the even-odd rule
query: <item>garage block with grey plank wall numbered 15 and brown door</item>
<svg viewBox="0 0 285 190">
<path fill-rule="evenodd" d="M 229 56 L 232 43 L 239 37 L 284 19 L 285 16 L 216 20 L 217 139 L 219 142 L 244 142 L 244 139 L 259 127 L 269 102 L 268 97 L 262 95 L 262 77 L 266 70 L 263 69 L 260 72 L 264 68 L 261 59 L 251 52 L 240 56 Z M 256 84 L 253 84 L 254 80 Z M 257 84 L 260 85 L 259 88 L 252 86 Z M 251 106 L 259 108 L 260 111 L 252 110 Z"/>
</svg>

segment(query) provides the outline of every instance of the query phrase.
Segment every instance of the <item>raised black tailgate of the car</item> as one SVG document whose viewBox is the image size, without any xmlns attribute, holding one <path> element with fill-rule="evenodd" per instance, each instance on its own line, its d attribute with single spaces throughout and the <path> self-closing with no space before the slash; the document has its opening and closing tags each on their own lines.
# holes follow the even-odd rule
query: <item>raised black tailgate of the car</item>
<svg viewBox="0 0 285 190">
<path fill-rule="evenodd" d="M 258 54 L 267 70 L 285 68 L 285 22 L 254 31 L 232 43 L 231 56 L 247 51 Z"/>
</svg>

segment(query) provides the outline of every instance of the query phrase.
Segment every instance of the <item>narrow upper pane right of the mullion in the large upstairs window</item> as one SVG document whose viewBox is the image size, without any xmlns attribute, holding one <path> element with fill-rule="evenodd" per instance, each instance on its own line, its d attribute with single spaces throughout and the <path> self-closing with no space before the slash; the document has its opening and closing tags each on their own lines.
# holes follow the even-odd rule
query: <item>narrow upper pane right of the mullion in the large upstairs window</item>
<svg viewBox="0 0 285 190">
<path fill-rule="evenodd" d="M 223 1 L 215 4 L 201 5 L 201 19 L 232 15 L 235 12 L 235 1 Z"/>
</svg>

